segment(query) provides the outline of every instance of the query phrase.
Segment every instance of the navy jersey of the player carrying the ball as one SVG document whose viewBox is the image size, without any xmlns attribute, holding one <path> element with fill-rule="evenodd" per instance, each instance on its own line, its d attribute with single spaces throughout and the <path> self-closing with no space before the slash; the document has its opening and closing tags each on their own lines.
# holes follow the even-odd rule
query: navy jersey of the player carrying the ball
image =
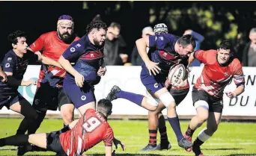
<svg viewBox="0 0 256 156">
<path fill-rule="evenodd" d="M 167 74 L 175 63 L 183 63 L 186 66 L 188 57 L 180 57 L 180 54 L 174 49 L 178 39 L 179 37 L 173 34 L 156 34 L 156 36 L 149 37 L 148 56 L 151 61 L 159 63 L 158 66 L 162 73 Z"/>
</svg>

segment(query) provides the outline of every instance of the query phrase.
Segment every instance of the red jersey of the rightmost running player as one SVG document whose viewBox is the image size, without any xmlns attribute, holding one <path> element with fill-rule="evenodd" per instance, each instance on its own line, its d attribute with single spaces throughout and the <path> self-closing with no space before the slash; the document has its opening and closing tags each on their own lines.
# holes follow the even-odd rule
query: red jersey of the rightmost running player
<svg viewBox="0 0 256 156">
<path fill-rule="evenodd" d="M 230 62 L 221 66 L 217 60 L 216 50 L 198 50 L 194 57 L 204 63 L 201 76 L 195 83 L 195 88 L 206 91 L 210 96 L 222 98 L 225 87 L 231 83 L 239 86 L 245 83 L 242 65 L 237 58 L 230 58 Z"/>
</svg>

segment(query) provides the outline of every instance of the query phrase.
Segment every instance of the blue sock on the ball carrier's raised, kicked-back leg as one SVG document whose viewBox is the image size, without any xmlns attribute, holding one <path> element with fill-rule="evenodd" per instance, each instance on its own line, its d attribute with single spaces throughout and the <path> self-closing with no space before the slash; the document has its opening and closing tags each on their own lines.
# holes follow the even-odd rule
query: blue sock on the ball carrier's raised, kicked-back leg
<svg viewBox="0 0 256 156">
<path fill-rule="evenodd" d="M 138 104 L 139 106 L 141 106 L 142 99 L 144 98 L 144 96 L 141 96 L 140 94 L 129 93 L 129 92 L 125 92 L 123 90 L 118 92 L 117 96 L 118 96 L 118 98 L 127 99 L 130 102 Z"/>
</svg>

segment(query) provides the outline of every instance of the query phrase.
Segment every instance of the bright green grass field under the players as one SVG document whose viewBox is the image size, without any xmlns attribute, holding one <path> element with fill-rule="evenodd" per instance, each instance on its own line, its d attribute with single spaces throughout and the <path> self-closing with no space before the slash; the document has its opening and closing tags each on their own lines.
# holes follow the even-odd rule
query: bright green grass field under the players
<svg viewBox="0 0 256 156">
<path fill-rule="evenodd" d="M 0 119 L 0 137 L 7 137 L 15 134 L 21 119 Z M 117 155 L 121 156 L 160 156 L 160 155 L 193 155 L 192 152 L 186 152 L 177 146 L 177 141 L 171 126 L 166 122 L 168 128 L 168 139 L 172 148 L 168 151 L 160 152 L 139 152 L 148 141 L 147 121 L 137 120 L 110 120 L 110 125 L 115 132 L 115 137 L 126 143 L 127 150 L 121 151 L 121 147 L 116 150 Z M 60 119 L 46 119 L 37 132 L 56 131 L 61 128 Z M 189 122 L 181 122 L 181 128 L 186 130 Z M 203 125 L 195 135 L 204 128 Z M 256 155 L 256 124 L 243 122 L 222 122 L 216 134 L 204 143 L 202 151 L 204 155 Z M 158 136 L 159 139 L 159 136 Z M 6 146 L 0 148 L 0 156 L 16 155 L 16 147 Z M 29 152 L 26 155 L 55 155 L 53 152 Z M 103 156 L 104 146 L 99 143 L 86 152 L 86 155 Z"/>
</svg>

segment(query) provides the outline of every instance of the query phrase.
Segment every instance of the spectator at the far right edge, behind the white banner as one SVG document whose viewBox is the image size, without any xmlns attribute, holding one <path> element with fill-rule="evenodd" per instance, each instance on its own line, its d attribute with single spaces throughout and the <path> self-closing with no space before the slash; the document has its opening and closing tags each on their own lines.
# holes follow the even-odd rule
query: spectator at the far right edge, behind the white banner
<svg viewBox="0 0 256 156">
<path fill-rule="evenodd" d="M 256 28 L 252 28 L 249 34 L 251 40 L 243 49 L 243 66 L 256 66 Z"/>
</svg>

